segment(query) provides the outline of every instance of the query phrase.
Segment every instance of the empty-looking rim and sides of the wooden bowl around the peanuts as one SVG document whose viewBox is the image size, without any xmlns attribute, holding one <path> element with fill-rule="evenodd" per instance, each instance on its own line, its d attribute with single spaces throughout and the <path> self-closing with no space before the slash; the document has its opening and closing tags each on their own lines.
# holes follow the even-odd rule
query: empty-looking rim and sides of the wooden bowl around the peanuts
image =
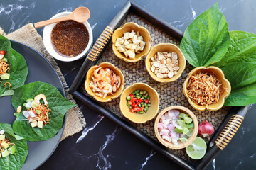
<svg viewBox="0 0 256 170">
<path fill-rule="evenodd" d="M 176 74 L 174 77 L 171 77 L 171 78 L 161 79 L 159 77 L 156 77 L 156 74 L 154 74 L 154 72 L 152 72 L 150 69 L 151 68 L 151 60 L 150 59 L 151 59 L 151 57 L 154 57 L 156 52 L 176 52 L 176 54 L 178 55 L 178 64 L 180 67 L 180 69 L 178 70 L 178 74 Z M 161 43 L 161 44 L 155 45 L 154 47 L 151 48 L 149 55 L 146 56 L 145 64 L 146 64 L 147 72 L 149 72 L 149 75 L 155 81 L 165 83 L 165 82 L 176 81 L 176 79 L 181 77 L 181 74 L 186 67 L 186 59 L 183 56 L 183 53 L 181 52 L 181 50 L 176 45 L 171 44 L 171 43 Z"/>
</svg>

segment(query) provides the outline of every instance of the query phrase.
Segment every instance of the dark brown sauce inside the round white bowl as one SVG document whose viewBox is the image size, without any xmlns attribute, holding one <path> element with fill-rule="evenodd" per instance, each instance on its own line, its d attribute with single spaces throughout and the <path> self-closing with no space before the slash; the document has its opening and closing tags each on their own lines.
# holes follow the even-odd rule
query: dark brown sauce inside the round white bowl
<svg viewBox="0 0 256 170">
<path fill-rule="evenodd" d="M 56 52 L 64 57 L 75 57 L 87 47 L 89 33 L 84 24 L 68 20 L 57 23 L 50 38 Z"/>
</svg>

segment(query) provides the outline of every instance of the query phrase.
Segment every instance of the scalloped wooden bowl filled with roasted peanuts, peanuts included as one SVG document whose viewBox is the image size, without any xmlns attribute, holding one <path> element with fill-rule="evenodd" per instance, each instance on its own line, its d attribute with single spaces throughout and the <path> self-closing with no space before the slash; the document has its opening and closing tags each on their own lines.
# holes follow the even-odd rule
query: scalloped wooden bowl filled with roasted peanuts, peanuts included
<svg viewBox="0 0 256 170">
<path fill-rule="evenodd" d="M 162 43 L 151 48 L 145 60 L 149 75 L 159 82 L 171 82 L 181 77 L 186 60 L 174 44 Z"/>
</svg>

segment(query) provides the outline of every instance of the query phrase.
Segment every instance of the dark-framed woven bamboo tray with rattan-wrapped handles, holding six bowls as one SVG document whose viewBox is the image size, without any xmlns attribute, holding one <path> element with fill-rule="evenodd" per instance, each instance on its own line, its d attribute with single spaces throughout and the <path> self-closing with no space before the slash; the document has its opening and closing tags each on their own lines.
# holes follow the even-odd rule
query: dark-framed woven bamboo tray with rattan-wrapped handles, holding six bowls
<svg viewBox="0 0 256 170">
<path fill-rule="evenodd" d="M 228 145 L 228 142 L 230 142 L 233 135 L 235 135 L 235 132 L 240 127 L 249 107 L 223 107 L 219 111 L 196 111 L 190 106 L 186 97 L 183 95 L 183 82 L 188 76 L 188 72 L 193 69 L 188 63 L 178 80 L 171 83 L 159 83 L 154 81 L 149 76 L 148 72 L 146 72 L 144 59 L 135 63 L 119 60 L 114 55 L 114 52 L 112 52 L 112 45 L 111 43 L 109 44 L 109 42 L 114 30 L 127 22 L 138 23 L 140 26 L 144 26 L 149 30 L 152 46 L 163 42 L 173 43 L 179 46 L 181 38 L 183 37 L 183 33 L 180 30 L 177 30 L 161 18 L 154 16 L 153 13 L 146 11 L 146 9 L 133 1 L 127 1 L 127 4 L 117 13 L 117 16 L 115 16 L 105 30 L 103 30 L 102 34 L 95 42 L 95 45 L 93 45 L 78 75 L 75 77 L 72 86 L 70 86 L 70 93 L 73 94 L 76 99 L 94 109 L 95 113 L 102 113 L 124 130 L 131 132 L 140 140 L 146 142 L 149 146 L 153 147 L 161 154 L 164 154 L 183 168 L 205 169 L 216 155 Z M 164 147 L 164 145 L 161 145 L 161 143 L 156 140 L 154 134 L 154 120 L 143 124 L 130 122 L 124 118 L 119 111 L 119 98 L 108 103 L 98 103 L 91 98 L 84 89 L 85 74 L 93 64 L 99 64 L 100 62 L 111 62 L 121 69 L 125 78 L 125 87 L 136 82 L 143 82 L 156 89 L 160 97 L 159 112 L 168 106 L 185 106 L 196 115 L 199 123 L 205 119 L 208 120 L 215 128 L 215 133 L 211 137 L 210 142 L 208 142 L 205 157 L 195 161 L 188 158 L 185 149 L 168 149 Z"/>
</svg>

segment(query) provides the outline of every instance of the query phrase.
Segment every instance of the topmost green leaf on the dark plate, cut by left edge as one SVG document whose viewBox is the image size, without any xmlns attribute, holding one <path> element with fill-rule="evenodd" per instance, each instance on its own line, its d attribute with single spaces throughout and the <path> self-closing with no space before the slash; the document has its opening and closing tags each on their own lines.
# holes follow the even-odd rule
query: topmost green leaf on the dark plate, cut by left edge
<svg viewBox="0 0 256 170">
<path fill-rule="evenodd" d="M 10 96 L 14 94 L 15 89 L 25 83 L 28 75 L 28 67 L 23 56 L 13 50 L 11 48 L 11 42 L 2 35 L 0 35 L 0 50 L 4 50 L 6 52 L 4 57 L 8 60 L 7 64 L 10 65 L 10 71 L 8 72 L 10 74 L 10 78 L 6 80 L 1 80 L 0 78 L 0 97 Z M 8 88 L 9 84 L 6 84 L 4 87 L 6 82 L 11 83 L 11 90 Z"/>
</svg>

